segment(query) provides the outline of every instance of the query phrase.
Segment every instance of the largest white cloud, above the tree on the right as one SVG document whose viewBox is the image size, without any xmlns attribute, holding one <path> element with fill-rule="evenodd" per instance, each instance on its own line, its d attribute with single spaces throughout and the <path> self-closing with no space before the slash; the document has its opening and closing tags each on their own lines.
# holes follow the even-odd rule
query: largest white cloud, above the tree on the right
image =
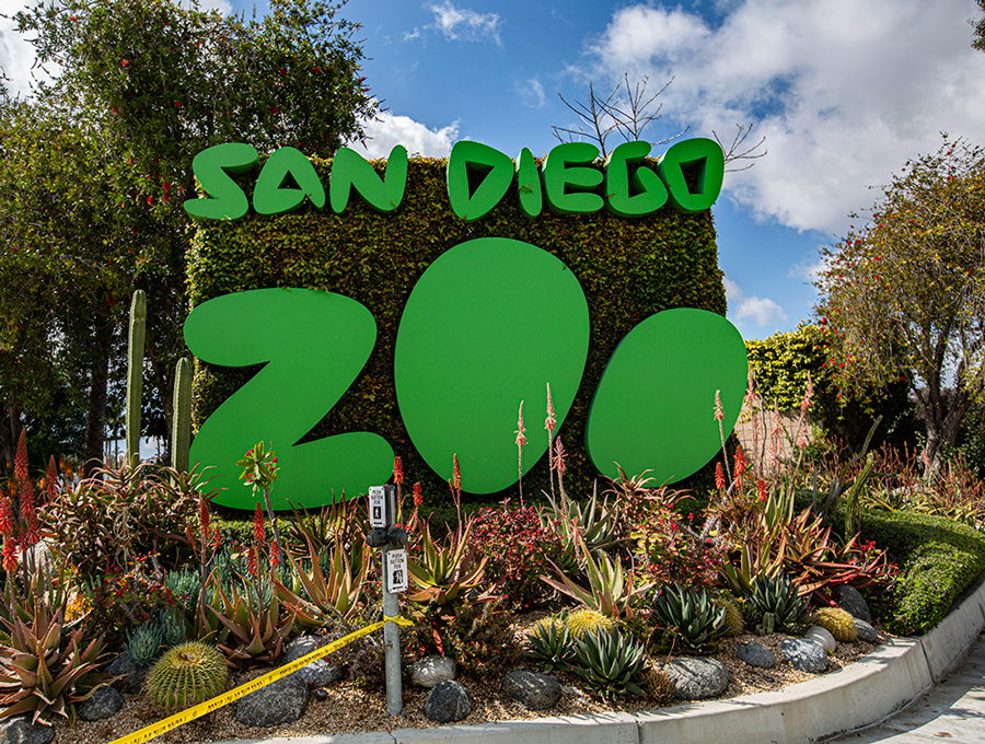
<svg viewBox="0 0 985 744">
<path fill-rule="evenodd" d="M 616 11 L 591 75 L 661 84 L 668 118 L 730 141 L 756 123 L 769 154 L 726 187 L 754 214 L 843 233 L 890 174 L 940 131 L 985 141 L 985 55 L 974 0 L 738 0 L 720 25 L 660 7 Z M 596 78 L 598 79 L 598 78 Z"/>
</svg>

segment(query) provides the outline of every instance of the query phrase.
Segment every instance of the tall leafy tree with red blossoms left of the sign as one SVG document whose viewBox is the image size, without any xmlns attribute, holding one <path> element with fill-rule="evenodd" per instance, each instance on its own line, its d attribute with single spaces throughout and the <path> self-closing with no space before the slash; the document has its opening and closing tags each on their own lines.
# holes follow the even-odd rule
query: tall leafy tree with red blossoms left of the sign
<svg viewBox="0 0 985 744">
<path fill-rule="evenodd" d="M 31 255 L 51 274 L 71 264 L 95 280 L 60 284 L 65 294 L 59 298 L 77 311 L 92 311 L 82 312 L 81 319 L 76 312 L 74 325 L 65 326 L 61 339 L 86 351 L 69 356 L 90 369 L 88 405 L 99 430 L 93 441 L 102 437 L 104 370 L 111 369 L 108 354 L 123 322 L 121 313 L 106 307 L 125 306 L 137 287 L 148 293 L 151 379 L 146 390 L 170 418 L 174 362 L 184 351 L 184 256 L 192 231 L 181 204 L 194 193 L 193 158 L 225 141 L 246 141 L 262 152 L 290 144 L 332 155 L 360 138 L 362 123 L 378 111 L 360 73 L 362 49 L 354 40 L 359 26 L 338 15 L 340 4 L 271 0 L 266 16 L 250 20 L 202 11 L 194 0 L 185 5 L 175 0 L 53 0 L 15 16 L 39 63 L 57 70 L 53 82 L 38 85 L 28 108 L 59 124 L 10 146 L 24 148 L 20 156 L 25 159 L 32 149 L 56 152 L 63 147 L 56 135 L 70 135 L 73 152 L 89 152 L 78 186 L 57 159 L 47 159 L 51 173 L 60 175 L 33 198 L 45 193 L 72 214 L 85 204 L 101 216 L 95 223 L 104 229 L 89 241 L 86 223 L 77 217 L 56 220 L 55 230 L 51 222 L 32 228 L 26 209 L 8 213 L 8 231 L 21 240 L 31 236 Z M 37 168 L 32 172 L 44 177 Z M 8 176 L 16 179 L 15 168 Z M 83 194 L 83 188 L 89 190 Z M 73 224 L 82 232 L 73 234 Z M 97 256 L 77 255 L 74 247 L 83 244 Z M 61 260 L 66 256 L 77 260 Z M 112 282 L 105 270 L 111 264 Z M 10 263 L 14 279 L 32 276 L 19 274 L 22 269 L 27 271 L 23 261 Z M 47 281 L 38 275 L 34 286 L 51 290 Z M 0 287 L 0 307 L 4 301 L 19 302 L 14 284 Z M 72 295 L 72 288 L 80 294 Z M 100 292 L 106 304 L 96 310 L 99 303 L 91 301 Z M 18 348 L 27 342 L 25 334 Z M 14 379 L 5 370 L 0 358 L 0 387 L 12 390 Z M 16 382 L 30 380 L 22 375 Z"/>
</svg>

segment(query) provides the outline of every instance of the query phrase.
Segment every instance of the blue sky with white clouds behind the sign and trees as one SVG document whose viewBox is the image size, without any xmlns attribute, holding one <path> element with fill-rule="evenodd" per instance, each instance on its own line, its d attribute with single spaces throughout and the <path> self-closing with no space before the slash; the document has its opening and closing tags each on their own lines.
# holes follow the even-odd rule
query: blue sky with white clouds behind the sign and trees
<svg viewBox="0 0 985 744">
<path fill-rule="evenodd" d="M 0 0 L 0 12 L 19 5 Z M 440 156 L 460 139 L 546 153 L 552 125 L 577 125 L 558 94 L 586 101 L 590 81 L 607 93 L 624 74 L 653 92 L 673 78 L 653 142 L 685 127 L 730 142 L 753 123 L 768 154 L 727 173 L 712 210 L 745 338 L 810 316 L 819 248 L 864 221 L 908 158 L 941 131 L 985 144 L 974 0 L 350 0 L 343 15 L 363 25 L 367 83 L 389 108 L 367 126 L 368 154 L 402 143 Z M 15 90 L 30 61 L 0 26 Z"/>
</svg>

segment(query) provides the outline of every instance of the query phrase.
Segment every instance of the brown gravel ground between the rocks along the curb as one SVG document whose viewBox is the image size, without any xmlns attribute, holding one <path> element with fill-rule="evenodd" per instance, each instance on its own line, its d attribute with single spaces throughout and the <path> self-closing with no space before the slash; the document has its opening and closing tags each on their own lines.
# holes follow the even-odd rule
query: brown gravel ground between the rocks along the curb
<svg viewBox="0 0 985 744">
<path fill-rule="evenodd" d="M 813 674 L 797 672 L 785 662 L 778 661 L 772 670 L 760 670 L 741 662 L 734 654 L 735 643 L 755 640 L 769 648 L 778 660 L 783 659 L 779 643 L 785 636 L 741 636 L 725 641 L 712 658 L 720 660 L 729 670 L 729 687 L 725 697 L 735 697 L 768 689 L 779 689 L 813 678 Z M 880 642 L 885 637 L 880 637 Z M 856 661 L 877 648 L 874 643 L 839 644 L 830 656 L 828 671 L 835 671 Z M 522 665 L 522 664 L 521 664 Z M 507 670 L 508 671 L 508 670 Z M 259 676 L 264 670 L 230 676 L 229 688 Z M 528 711 L 499 693 L 501 677 L 463 678 L 462 682 L 475 698 L 475 708 L 461 723 L 476 724 L 488 721 L 530 720 L 545 716 L 575 716 L 599 713 L 610 710 L 639 712 L 653 710 L 654 704 L 647 698 L 621 700 L 616 704 L 603 700 L 598 695 L 579 686 L 579 677 L 560 674 L 565 694 L 548 711 Z M 318 702 L 312 696 L 308 711 L 298 721 L 270 729 L 248 728 L 239 723 L 231 704 L 205 718 L 186 723 L 153 740 L 154 744 L 221 742 L 236 739 L 264 736 L 310 736 L 315 734 L 343 734 L 367 731 L 393 731 L 404 728 L 436 728 L 439 724 L 424 714 L 424 702 L 428 690 L 404 683 L 404 712 L 392 717 L 386 712 L 386 697 L 382 691 L 372 693 L 352 685 L 339 684 L 327 688 L 328 698 Z M 165 718 L 166 713 L 147 699 L 143 694 L 127 696 L 127 704 L 118 716 L 97 722 L 77 721 L 72 725 L 56 723 L 56 744 L 107 744 Z"/>
</svg>

